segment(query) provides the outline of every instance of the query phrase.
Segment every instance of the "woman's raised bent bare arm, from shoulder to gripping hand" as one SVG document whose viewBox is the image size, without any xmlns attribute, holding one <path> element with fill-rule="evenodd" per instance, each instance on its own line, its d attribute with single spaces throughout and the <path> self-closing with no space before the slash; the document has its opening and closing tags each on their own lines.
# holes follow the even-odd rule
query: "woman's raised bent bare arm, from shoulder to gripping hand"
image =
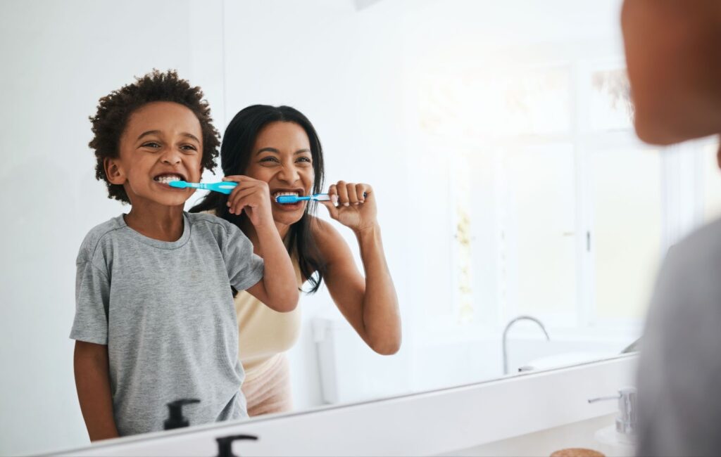
<svg viewBox="0 0 721 457">
<path fill-rule="evenodd" d="M 314 235 L 326 263 L 324 279 L 330 296 L 373 350 L 384 355 L 397 353 L 401 345 L 398 298 L 386 263 L 381 227 L 376 221 L 373 189 L 367 184 L 340 181 L 331 186 L 329 194 L 337 195 L 339 206 L 330 203 L 325 206 L 333 219 L 355 233 L 366 273 L 363 278 L 340 233 L 329 223 L 316 220 Z"/>
</svg>

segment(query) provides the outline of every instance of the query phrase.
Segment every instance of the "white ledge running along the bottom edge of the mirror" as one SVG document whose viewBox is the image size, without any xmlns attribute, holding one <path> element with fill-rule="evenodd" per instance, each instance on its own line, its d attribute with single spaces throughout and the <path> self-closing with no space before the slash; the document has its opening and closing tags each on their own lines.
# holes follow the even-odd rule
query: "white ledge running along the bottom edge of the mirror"
<svg viewBox="0 0 721 457">
<path fill-rule="evenodd" d="M 216 456 L 216 439 L 257 435 L 242 456 L 432 456 L 612 414 L 588 404 L 632 385 L 636 356 L 421 394 L 120 438 L 54 455 Z"/>
</svg>

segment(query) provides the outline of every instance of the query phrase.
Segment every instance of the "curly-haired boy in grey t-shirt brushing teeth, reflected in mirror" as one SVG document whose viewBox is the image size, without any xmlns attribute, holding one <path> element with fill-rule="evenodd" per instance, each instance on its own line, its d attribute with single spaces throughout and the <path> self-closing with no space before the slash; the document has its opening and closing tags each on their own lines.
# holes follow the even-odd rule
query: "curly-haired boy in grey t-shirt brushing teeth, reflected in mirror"
<svg viewBox="0 0 721 457">
<path fill-rule="evenodd" d="M 71 338 L 90 440 L 162 430 L 175 399 L 200 399 L 185 412 L 193 425 L 246 417 L 231 286 L 278 312 L 298 302 L 267 184 L 243 179 L 230 196 L 261 237 L 261 259 L 234 225 L 183 211 L 193 189 L 168 185 L 215 166 L 200 88 L 154 71 L 100 99 L 91 120 L 96 177 L 131 212 L 94 227 L 76 261 Z"/>
</svg>

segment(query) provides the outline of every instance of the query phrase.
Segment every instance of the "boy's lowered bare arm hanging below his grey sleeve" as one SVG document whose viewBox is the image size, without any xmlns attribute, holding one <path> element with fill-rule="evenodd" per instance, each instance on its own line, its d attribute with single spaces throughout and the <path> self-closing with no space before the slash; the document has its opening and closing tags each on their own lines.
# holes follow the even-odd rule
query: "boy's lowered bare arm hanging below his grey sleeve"
<svg viewBox="0 0 721 457">
<path fill-rule="evenodd" d="M 75 386 L 91 441 L 117 438 L 112 415 L 107 345 L 75 342 Z"/>
</svg>

